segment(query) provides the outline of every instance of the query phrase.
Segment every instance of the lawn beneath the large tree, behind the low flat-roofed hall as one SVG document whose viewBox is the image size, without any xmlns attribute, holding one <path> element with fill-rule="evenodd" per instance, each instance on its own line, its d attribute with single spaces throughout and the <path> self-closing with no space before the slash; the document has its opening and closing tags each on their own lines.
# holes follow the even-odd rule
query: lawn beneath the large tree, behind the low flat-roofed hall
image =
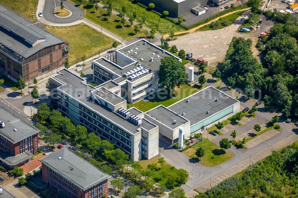
<svg viewBox="0 0 298 198">
<path fill-rule="evenodd" d="M 178 102 L 179 100 L 186 98 L 186 97 L 198 92 L 199 90 L 200 89 L 198 89 L 198 88 L 194 88 L 187 84 L 183 84 L 179 88 L 178 87 L 175 88 L 175 91 L 173 91 L 173 98 L 171 98 L 171 96 L 165 92 L 160 92 L 160 96 L 164 97 L 164 99 L 159 99 L 159 98 L 155 97 L 154 99 L 148 100 L 147 102 L 140 100 L 136 103 L 131 104 L 130 107 L 134 106 L 137 109 L 145 112 L 145 111 L 148 111 L 148 110 L 150 110 L 158 105 L 161 105 L 161 104 L 164 106 L 170 106 L 171 104 L 174 104 L 174 103 Z"/>
</svg>

